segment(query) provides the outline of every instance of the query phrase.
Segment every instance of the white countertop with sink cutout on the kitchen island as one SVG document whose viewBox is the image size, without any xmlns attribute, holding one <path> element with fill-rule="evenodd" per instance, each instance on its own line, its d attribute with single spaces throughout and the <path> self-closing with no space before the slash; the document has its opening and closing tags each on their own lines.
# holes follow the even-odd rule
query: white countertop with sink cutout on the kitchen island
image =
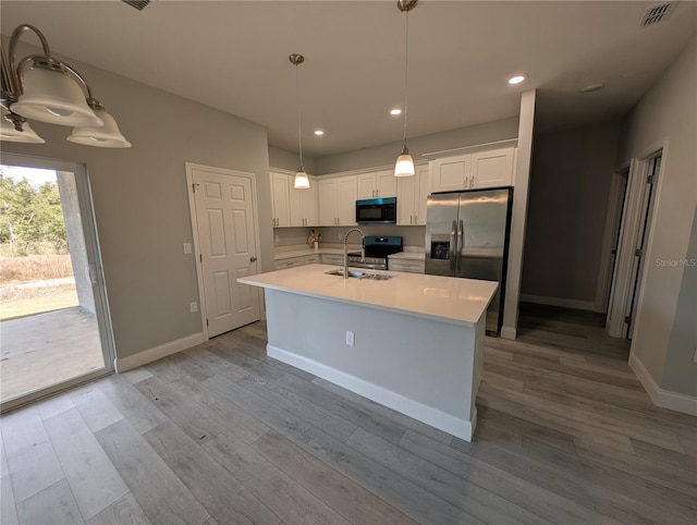
<svg viewBox="0 0 697 525">
<path fill-rule="evenodd" d="M 325 273 L 335 269 L 332 265 L 306 265 L 237 281 L 328 301 L 359 303 L 455 325 L 476 323 L 498 288 L 498 283 L 492 281 L 399 271 L 368 270 L 395 276 L 388 281 L 343 279 Z"/>
</svg>

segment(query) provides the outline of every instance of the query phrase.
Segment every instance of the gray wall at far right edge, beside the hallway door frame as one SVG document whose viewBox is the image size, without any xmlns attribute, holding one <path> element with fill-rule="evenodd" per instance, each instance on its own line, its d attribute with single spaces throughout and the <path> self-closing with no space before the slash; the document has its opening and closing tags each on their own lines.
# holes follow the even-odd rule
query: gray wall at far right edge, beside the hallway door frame
<svg viewBox="0 0 697 525">
<path fill-rule="evenodd" d="M 697 394 L 693 363 L 695 296 L 681 300 L 697 268 L 662 266 L 657 260 L 687 258 L 694 243 L 697 205 L 697 37 L 622 122 L 619 162 L 663 150 L 657 183 L 643 294 L 632 341 L 632 354 L 659 388 Z M 685 279 L 687 277 L 687 279 Z M 682 308 L 688 308 L 684 312 Z M 692 313 L 689 312 L 692 308 Z M 673 334 L 675 334 L 673 337 Z"/>
</svg>

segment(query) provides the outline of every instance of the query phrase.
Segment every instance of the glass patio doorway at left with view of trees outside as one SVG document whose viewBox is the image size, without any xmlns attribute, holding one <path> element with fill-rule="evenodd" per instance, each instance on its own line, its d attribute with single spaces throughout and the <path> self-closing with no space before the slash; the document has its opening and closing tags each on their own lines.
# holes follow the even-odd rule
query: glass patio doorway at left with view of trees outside
<svg viewBox="0 0 697 525">
<path fill-rule="evenodd" d="M 3 155 L 0 408 L 113 369 L 84 167 Z"/>
</svg>

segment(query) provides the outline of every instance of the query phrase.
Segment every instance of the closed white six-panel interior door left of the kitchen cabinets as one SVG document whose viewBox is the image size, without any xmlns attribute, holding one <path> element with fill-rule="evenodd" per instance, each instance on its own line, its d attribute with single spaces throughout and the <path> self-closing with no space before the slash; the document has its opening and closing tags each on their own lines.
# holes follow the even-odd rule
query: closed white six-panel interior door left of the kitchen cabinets
<svg viewBox="0 0 697 525">
<path fill-rule="evenodd" d="M 237 278 L 258 272 L 254 175 L 187 164 L 195 203 L 201 313 L 212 338 L 259 320 L 259 293 Z"/>
</svg>

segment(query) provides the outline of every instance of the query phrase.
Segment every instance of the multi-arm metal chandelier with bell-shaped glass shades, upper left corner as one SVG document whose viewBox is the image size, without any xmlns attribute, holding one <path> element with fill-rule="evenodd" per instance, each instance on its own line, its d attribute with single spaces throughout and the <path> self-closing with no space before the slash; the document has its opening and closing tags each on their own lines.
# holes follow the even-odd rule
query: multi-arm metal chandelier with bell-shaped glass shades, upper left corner
<svg viewBox="0 0 697 525">
<path fill-rule="evenodd" d="M 26 30 L 36 34 L 44 54 L 29 54 L 17 62 L 17 42 Z M 69 137 L 71 142 L 111 148 L 131 146 L 105 106 L 91 96 L 91 88 L 85 77 L 51 56 L 48 41 L 39 29 L 28 24 L 16 27 L 10 36 L 9 53 L 4 46 L 1 52 L 2 141 L 45 143 L 26 121 L 33 119 L 49 124 L 76 126 Z M 12 133 L 5 133 L 5 122 L 11 124 Z M 77 136 L 84 136 L 86 142 L 74 139 Z"/>
</svg>

